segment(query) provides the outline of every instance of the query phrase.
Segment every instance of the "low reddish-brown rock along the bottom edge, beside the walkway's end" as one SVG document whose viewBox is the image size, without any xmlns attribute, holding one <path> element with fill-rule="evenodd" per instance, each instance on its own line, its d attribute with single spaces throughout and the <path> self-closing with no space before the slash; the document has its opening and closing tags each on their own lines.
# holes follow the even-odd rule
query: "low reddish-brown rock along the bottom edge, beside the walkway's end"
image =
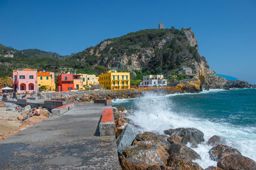
<svg viewBox="0 0 256 170">
<path fill-rule="evenodd" d="M 162 165 L 151 166 L 149 164 L 141 162 L 140 160 L 131 158 L 120 159 L 120 166 L 123 170 L 174 170 L 173 167 L 167 167 Z"/>
</svg>

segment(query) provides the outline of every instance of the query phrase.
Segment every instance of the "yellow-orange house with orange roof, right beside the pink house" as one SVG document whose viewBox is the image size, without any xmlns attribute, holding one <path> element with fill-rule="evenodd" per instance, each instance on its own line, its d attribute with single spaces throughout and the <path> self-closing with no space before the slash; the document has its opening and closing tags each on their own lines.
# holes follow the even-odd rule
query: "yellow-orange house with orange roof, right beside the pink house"
<svg viewBox="0 0 256 170">
<path fill-rule="evenodd" d="M 38 72 L 37 73 L 37 85 L 38 90 L 41 92 L 41 87 L 45 86 L 46 90 L 54 91 L 55 83 L 54 83 L 54 73 L 53 72 Z"/>
</svg>

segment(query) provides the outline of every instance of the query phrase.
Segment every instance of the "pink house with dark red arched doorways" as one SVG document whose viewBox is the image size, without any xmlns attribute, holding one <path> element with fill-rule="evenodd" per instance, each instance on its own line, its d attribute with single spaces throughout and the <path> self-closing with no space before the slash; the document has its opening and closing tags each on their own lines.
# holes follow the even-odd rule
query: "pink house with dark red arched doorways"
<svg viewBox="0 0 256 170">
<path fill-rule="evenodd" d="M 38 92 L 37 89 L 37 70 L 36 69 L 17 69 L 12 72 L 13 89 L 18 92 Z"/>
</svg>

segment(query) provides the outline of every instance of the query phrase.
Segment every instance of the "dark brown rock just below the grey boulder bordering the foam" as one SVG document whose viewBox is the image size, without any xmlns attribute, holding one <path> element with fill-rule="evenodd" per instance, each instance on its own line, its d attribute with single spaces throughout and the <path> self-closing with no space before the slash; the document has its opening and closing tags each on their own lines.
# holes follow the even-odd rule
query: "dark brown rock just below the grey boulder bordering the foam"
<svg viewBox="0 0 256 170">
<path fill-rule="evenodd" d="M 191 160 L 201 159 L 200 155 L 196 153 L 193 149 L 180 143 L 173 143 L 172 145 L 170 145 L 167 152 L 170 155 L 184 155 L 185 157 L 188 157 Z"/>
</svg>

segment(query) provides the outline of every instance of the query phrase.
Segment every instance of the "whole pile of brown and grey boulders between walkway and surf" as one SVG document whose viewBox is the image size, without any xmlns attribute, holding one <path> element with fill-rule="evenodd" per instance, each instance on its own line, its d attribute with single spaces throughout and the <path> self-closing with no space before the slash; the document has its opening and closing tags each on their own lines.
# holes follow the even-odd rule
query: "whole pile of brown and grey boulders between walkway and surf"
<svg viewBox="0 0 256 170">
<path fill-rule="evenodd" d="M 122 169 L 203 169 L 195 160 L 201 157 L 193 150 L 206 143 L 212 146 L 210 159 L 217 167 L 206 169 L 255 169 L 256 162 L 231 146 L 221 136 L 208 141 L 204 133 L 195 128 L 168 129 L 164 134 L 143 132 L 133 125 L 127 115 L 132 111 L 113 108 L 116 125 L 116 145 Z"/>
</svg>

